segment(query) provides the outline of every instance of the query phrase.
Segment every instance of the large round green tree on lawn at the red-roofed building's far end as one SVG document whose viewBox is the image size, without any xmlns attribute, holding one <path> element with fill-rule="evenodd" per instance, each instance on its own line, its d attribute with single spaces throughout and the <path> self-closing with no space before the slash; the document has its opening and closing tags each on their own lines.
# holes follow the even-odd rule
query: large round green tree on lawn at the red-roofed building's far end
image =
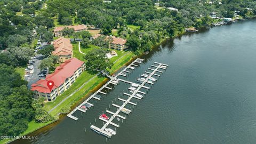
<svg viewBox="0 0 256 144">
<path fill-rule="evenodd" d="M 113 66 L 113 62 L 106 57 L 108 50 L 94 49 L 85 55 L 87 68 L 93 70 L 107 70 Z"/>
</svg>

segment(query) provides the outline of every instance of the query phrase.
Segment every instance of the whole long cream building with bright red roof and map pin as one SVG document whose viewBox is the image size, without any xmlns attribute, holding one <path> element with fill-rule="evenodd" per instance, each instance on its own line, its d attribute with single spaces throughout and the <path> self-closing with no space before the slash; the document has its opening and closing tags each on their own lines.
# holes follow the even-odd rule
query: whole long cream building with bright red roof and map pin
<svg viewBox="0 0 256 144">
<path fill-rule="evenodd" d="M 58 66 L 54 73 L 40 79 L 31 85 L 31 91 L 34 92 L 34 98 L 44 97 L 46 101 L 53 101 L 55 98 L 66 91 L 72 85 L 78 76 L 85 70 L 85 63 L 76 58 L 67 60 Z M 53 81 L 52 91 L 47 86 L 48 81 Z"/>
</svg>

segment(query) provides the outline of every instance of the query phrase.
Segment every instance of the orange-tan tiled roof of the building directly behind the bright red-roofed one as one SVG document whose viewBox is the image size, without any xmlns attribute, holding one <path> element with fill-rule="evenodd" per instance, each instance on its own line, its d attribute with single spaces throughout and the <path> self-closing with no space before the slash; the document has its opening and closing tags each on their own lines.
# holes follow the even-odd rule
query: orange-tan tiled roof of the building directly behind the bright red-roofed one
<svg viewBox="0 0 256 144">
<path fill-rule="evenodd" d="M 72 45 L 68 38 L 60 37 L 53 41 L 54 51 L 52 52 L 53 55 L 71 55 Z"/>
</svg>

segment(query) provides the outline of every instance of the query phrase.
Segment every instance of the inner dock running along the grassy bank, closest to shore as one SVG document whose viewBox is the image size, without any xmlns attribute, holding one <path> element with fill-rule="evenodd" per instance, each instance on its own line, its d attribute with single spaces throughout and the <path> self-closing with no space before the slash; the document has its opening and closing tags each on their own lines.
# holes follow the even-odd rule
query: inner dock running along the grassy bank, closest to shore
<svg viewBox="0 0 256 144">
<path fill-rule="evenodd" d="M 143 61 L 143 59 L 136 59 L 136 60 L 134 60 L 129 66 L 127 66 L 126 68 L 124 68 L 120 73 L 118 73 L 115 77 L 111 77 L 111 76 L 108 76 L 109 78 L 110 78 L 110 81 L 108 81 L 105 85 L 103 85 L 98 91 L 96 91 L 95 93 L 93 93 L 88 99 L 86 99 L 83 103 L 81 103 L 81 105 L 79 105 L 78 107 L 76 107 L 74 110 L 72 110 L 67 116 L 69 117 L 69 118 L 72 118 L 72 119 L 74 119 L 74 120 L 76 120 L 77 121 L 77 117 L 75 117 L 75 116 L 72 116 L 74 113 L 75 113 L 75 111 L 76 110 L 78 110 L 80 107 L 82 107 L 85 103 L 87 103 L 88 101 L 90 101 L 92 98 L 94 98 L 94 99 L 97 99 L 97 97 L 95 97 L 95 95 L 96 94 L 98 94 L 98 93 L 102 93 L 102 94 L 107 94 L 106 92 L 102 92 L 101 90 L 103 90 L 105 87 L 107 88 L 107 89 L 109 89 L 109 90 L 112 90 L 113 88 L 111 87 L 109 87 L 108 85 L 111 83 L 111 84 L 115 84 L 113 81 L 118 81 L 118 79 L 117 79 L 117 77 L 120 75 L 120 74 L 122 74 L 122 73 L 124 73 L 124 71 L 127 71 L 127 69 L 129 68 L 129 67 L 131 67 L 131 66 L 134 66 L 134 63 L 141 63 Z M 116 84 L 115 84 L 116 85 Z M 99 99 L 99 98 L 98 98 Z"/>
</svg>

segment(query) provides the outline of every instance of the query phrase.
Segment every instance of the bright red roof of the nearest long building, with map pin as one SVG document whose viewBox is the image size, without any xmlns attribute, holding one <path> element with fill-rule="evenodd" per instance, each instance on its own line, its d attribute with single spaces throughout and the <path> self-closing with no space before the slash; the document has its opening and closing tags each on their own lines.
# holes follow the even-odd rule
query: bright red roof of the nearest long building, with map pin
<svg viewBox="0 0 256 144">
<path fill-rule="evenodd" d="M 40 79 L 36 83 L 32 84 L 30 90 L 39 91 L 42 93 L 50 93 L 50 90 L 47 87 L 48 81 L 53 81 L 54 86 L 52 90 L 56 89 L 56 87 L 62 85 L 67 78 L 73 76 L 75 71 L 81 67 L 83 63 L 83 61 L 76 58 L 61 63 L 61 65 L 55 69 L 54 73 L 49 74 L 45 79 Z"/>
</svg>

